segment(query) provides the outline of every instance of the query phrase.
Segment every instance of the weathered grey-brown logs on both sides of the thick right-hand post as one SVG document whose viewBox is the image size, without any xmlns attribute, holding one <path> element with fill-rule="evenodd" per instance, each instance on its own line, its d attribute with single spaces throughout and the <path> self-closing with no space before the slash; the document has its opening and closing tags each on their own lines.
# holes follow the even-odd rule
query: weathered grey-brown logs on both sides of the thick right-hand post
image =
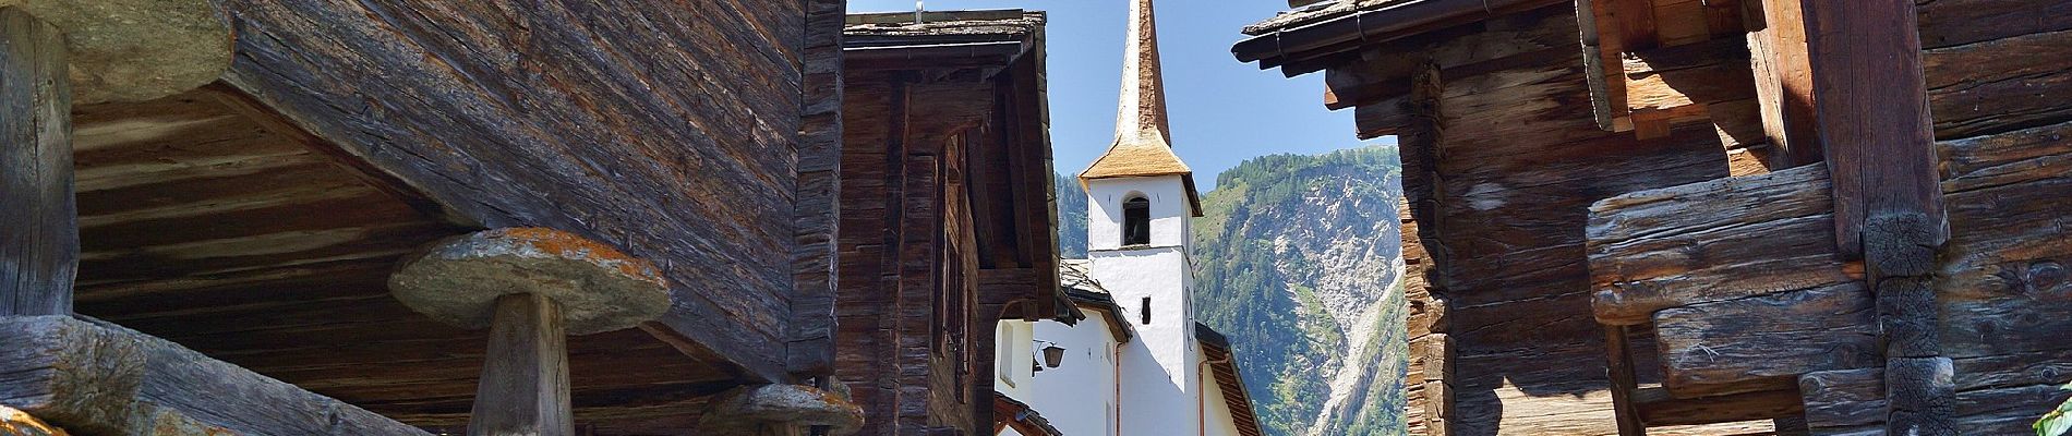
<svg viewBox="0 0 2072 436">
<path fill-rule="evenodd" d="M 2016 21 L 1991 21 L 2026 10 Z M 1954 360 L 1956 434 L 2022 434 L 2057 401 L 2072 205 L 2064 54 L 2072 8 L 1921 4 L 1939 200 L 1950 244 L 1933 289 L 1939 353 Z M 1993 23 L 1993 25 L 1983 25 Z M 1813 434 L 1883 434 L 1886 366 L 1865 267 L 1834 240 L 1823 165 L 1635 192 L 1598 203 L 1600 320 L 1653 322 L 1668 391 L 1778 382 L 1805 397 Z M 1906 366 L 1900 366 L 1906 368 Z M 1906 368 L 1935 370 L 1935 368 Z"/>
</svg>

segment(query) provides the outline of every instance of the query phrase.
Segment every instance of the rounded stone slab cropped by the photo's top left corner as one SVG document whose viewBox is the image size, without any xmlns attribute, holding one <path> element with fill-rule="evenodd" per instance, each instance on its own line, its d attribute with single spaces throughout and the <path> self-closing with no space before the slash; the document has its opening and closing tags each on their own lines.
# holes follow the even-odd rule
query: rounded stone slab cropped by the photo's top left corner
<svg viewBox="0 0 2072 436">
<path fill-rule="evenodd" d="M 145 101 L 213 83 L 236 37 L 215 0 L 0 0 L 64 33 L 73 103 Z"/>
</svg>

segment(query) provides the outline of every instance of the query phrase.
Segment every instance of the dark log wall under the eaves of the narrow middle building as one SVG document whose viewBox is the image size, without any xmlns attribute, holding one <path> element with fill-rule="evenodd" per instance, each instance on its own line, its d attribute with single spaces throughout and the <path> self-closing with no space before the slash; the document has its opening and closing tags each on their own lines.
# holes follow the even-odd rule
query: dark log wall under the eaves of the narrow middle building
<svg viewBox="0 0 2072 436">
<path fill-rule="evenodd" d="M 978 250 L 968 151 L 986 143 L 992 81 L 852 76 L 843 103 L 837 378 L 870 419 L 858 434 L 972 434 Z M 978 324 L 978 326 L 974 326 Z M 976 374 L 976 376 L 974 376 Z M 988 422 L 990 424 L 990 422 Z"/>
</svg>

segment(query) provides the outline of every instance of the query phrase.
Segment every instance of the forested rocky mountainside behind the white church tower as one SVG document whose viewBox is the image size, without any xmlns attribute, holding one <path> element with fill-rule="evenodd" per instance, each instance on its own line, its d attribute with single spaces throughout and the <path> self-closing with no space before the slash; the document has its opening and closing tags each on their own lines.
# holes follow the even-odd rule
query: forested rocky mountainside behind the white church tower
<svg viewBox="0 0 2072 436">
<path fill-rule="evenodd" d="M 1086 198 L 1061 176 L 1061 254 Z M 1276 436 L 1403 434 L 1394 147 L 1268 155 L 1225 172 L 1193 223 L 1196 316 L 1231 337 Z"/>
</svg>

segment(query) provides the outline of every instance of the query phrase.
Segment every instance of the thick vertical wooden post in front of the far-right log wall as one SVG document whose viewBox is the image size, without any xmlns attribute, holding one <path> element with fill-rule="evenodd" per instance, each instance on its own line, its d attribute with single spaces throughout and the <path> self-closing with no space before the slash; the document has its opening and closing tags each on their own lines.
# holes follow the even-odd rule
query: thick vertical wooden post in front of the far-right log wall
<svg viewBox="0 0 2072 436">
<path fill-rule="evenodd" d="M 1861 256 L 1886 353 L 1886 434 L 1954 436 L 1935 254 L 1948 238 L 1912 0 L 1803 0 L 1836 244 Z M 1778 23 L 1769 23 L 1778 25 Z"/>
</svg>

